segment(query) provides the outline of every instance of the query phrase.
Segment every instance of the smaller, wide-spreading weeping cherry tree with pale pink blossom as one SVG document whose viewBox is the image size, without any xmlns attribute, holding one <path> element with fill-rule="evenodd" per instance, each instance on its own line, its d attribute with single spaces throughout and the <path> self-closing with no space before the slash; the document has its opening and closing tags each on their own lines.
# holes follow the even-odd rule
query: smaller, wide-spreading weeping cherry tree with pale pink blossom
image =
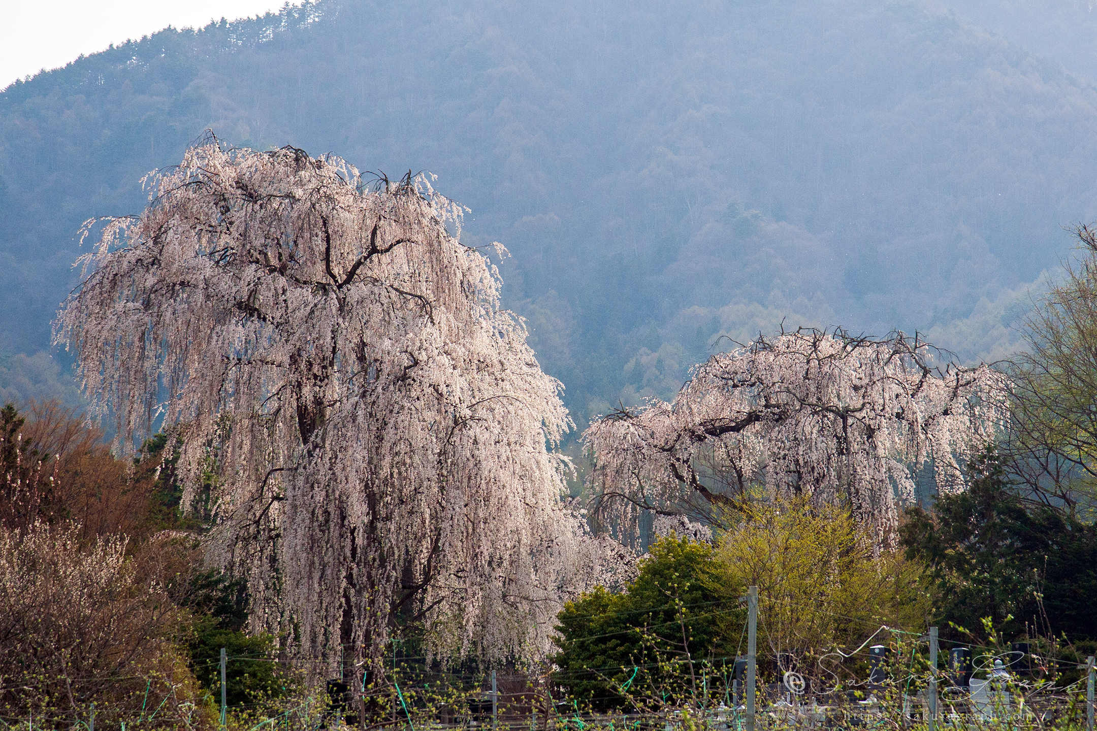
<svg viewBox="0 0 1097 731">
<path fill-rule="evenodd" d="M 713 517 L 762 495 L 842 505 L 881 544 L 928 465 L 964 489 L 962 461 L 1005 418 L 1006 382 L 896 333 L 799 330 L 717 354 L 672 403 L 620 410 L 584 433 L 596 515 L 623 533 L 641 511 Z M 938 363 L 939 365 L 935 365 Z"/>
</svg>

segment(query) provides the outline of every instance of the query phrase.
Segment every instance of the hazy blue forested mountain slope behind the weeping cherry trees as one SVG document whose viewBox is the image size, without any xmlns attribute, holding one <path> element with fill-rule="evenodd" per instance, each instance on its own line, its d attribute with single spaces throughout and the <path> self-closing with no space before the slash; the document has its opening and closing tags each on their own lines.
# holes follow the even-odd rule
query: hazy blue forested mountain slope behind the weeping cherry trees
<svg viewBox="0 0 1097 731">
<path fill-rule="evenodd" d="M 137 212 L 208 127 L 437 173 L 464 240 L 513 254 L 505 301 L 580 422 L 782 320 L 995 357 L 1095 217 L 1095 112 L 914 0 L 321 0 L 168 30 L 0 93 L 0 350 L 47 346 L 80 222 Z"/>
</svg>

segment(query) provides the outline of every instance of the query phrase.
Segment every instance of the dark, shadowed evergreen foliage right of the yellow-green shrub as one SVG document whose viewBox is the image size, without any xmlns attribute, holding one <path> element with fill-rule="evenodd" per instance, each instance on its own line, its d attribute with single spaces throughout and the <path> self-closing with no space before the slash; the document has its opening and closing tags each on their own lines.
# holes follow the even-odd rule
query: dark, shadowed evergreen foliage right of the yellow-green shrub
<svg viewBox="0 0 1097 731">
<path fill-rule="evenodd" d="M 965 492 L 907 509 L 901 528 L 907 557 L 938 584 L 942 631 L 969 641 L 986 617 L 1007 637 L 1097 640 L 1097 527 L 1026 505 L 993 453 L 970 469 Z"/>
</svg>

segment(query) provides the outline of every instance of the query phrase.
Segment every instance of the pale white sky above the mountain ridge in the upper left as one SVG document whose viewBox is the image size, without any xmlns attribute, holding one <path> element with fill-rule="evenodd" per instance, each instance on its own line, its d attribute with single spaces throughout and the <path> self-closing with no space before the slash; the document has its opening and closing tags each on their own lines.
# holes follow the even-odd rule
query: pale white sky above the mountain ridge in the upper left
<svg viewBox="0 0 1097 731">
<path fill-rule="evenodd" d="M 284 0 L 0 0 L 0 89 L 80 54 L 140 38 L 168 25 L 276 11 Z M 298 4 L 293 2 L 291 4 Z"/>
</svg>

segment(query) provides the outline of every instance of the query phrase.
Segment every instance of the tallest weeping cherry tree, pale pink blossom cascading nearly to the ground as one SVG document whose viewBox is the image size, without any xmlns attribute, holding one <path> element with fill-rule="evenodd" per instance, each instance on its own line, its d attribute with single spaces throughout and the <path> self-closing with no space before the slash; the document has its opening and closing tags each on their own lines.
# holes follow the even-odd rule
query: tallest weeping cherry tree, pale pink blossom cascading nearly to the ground
<svg viewBox="0 0 1097 731">
<path fill-rule="evenodd" d="M 184 504 L 213 486 L 207 555 L 253 628 L 329 670 L 397 621 L 440 653 L 545 650 L 607 544 L 562 502 L 559 384 L 461 208 L 422 175 L 216 140 L 151 189 L 106 219 L 56 338 L 123 448 L 162 419 Z"/>
</svg>

